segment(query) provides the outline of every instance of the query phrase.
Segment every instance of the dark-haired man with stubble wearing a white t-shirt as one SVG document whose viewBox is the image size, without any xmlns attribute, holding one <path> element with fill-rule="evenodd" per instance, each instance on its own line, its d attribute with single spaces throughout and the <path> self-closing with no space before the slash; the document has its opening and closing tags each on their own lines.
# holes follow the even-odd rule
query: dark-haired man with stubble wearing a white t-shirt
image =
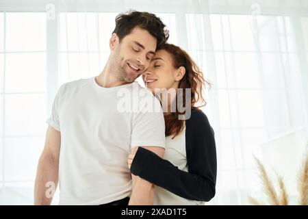
<svg viewBox="0 0 308 219">
<path fill-rule="evenodd" d="M 133 96 L 133 86 L 145 89 L 135 79 L 167 39 L 164 23 L 154 14 L 119 14 L 102 73 L 60 87 L 38 164 L 36 205 L 51 203 L 47 185 L 56 187 L 58 179 L 60 205 L 152 204 L 151 183 L 133 177 L 132 188 L 127 156 L 133 146 L 164 155 L 164 116 L 140 106 L 136 112 L 120 112 L 118 91 Z M 149 91 L 145 98 L 157 101 Z"/>
</svg>

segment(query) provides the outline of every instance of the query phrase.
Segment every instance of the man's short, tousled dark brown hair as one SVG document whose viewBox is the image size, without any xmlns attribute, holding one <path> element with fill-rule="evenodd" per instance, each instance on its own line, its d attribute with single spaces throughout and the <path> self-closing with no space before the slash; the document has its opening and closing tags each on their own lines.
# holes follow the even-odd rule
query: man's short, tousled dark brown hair
<svg viewBox="0 0 308 219">
<path fill-rule="evenodd" d="M 125 14 L 118 14 L 116 16 L 116 27 L 112 33 L 116 33 L 118 38 L 122 40 L 135 27 L 146 29 L 157 39 L 156 49 L 165 44 L 169 38 L 169 31 L 166 29 L 166 25 L 159 17 L 149 12 L 129 11 Z"/>
</svg>

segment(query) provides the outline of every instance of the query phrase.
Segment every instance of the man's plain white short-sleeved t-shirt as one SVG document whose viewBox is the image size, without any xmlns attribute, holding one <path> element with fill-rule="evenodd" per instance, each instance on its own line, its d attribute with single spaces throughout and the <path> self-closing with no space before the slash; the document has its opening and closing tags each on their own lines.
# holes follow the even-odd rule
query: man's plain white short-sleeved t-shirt
<svg viewBox="0 0 308 219">
<path fill-rule="evenodd" d="M 65 83 L 47 123 L 61 132 L 60 205 L 130 196 L 131 146 L 165 146 L 159 101 L 136 81 L 114 88 L 99 86 L 95 77 Z"/>
</svg>

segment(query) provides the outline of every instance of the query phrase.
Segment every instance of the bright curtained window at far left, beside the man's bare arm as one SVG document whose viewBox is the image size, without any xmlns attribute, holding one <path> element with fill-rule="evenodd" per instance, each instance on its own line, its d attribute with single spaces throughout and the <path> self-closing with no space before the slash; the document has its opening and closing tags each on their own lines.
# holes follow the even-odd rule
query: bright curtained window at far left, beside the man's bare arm
<svg viewBox="0 0 308 219">
<path fill-rule="evenodd" d="M 0 204 L 30 203 L 47 128 L 45 13 L 1 12 L 0 29 Z"/>
</svg>

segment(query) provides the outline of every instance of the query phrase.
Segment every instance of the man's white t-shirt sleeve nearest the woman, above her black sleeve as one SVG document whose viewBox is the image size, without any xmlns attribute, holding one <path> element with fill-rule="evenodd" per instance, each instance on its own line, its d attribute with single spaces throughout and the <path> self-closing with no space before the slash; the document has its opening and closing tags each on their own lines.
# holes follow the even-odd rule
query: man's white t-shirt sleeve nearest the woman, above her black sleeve
<svg viewBox="0 0 308 219">
<path fill-rule="evenodd" d="M 151 94 L 152 95 L 152 94 Z M 165 147 L 165 121 L 162 107 L 155 96 L 148 96 L 155 110 L 140 110 L 133 121 L 131 146 Z"/>
</svg>

